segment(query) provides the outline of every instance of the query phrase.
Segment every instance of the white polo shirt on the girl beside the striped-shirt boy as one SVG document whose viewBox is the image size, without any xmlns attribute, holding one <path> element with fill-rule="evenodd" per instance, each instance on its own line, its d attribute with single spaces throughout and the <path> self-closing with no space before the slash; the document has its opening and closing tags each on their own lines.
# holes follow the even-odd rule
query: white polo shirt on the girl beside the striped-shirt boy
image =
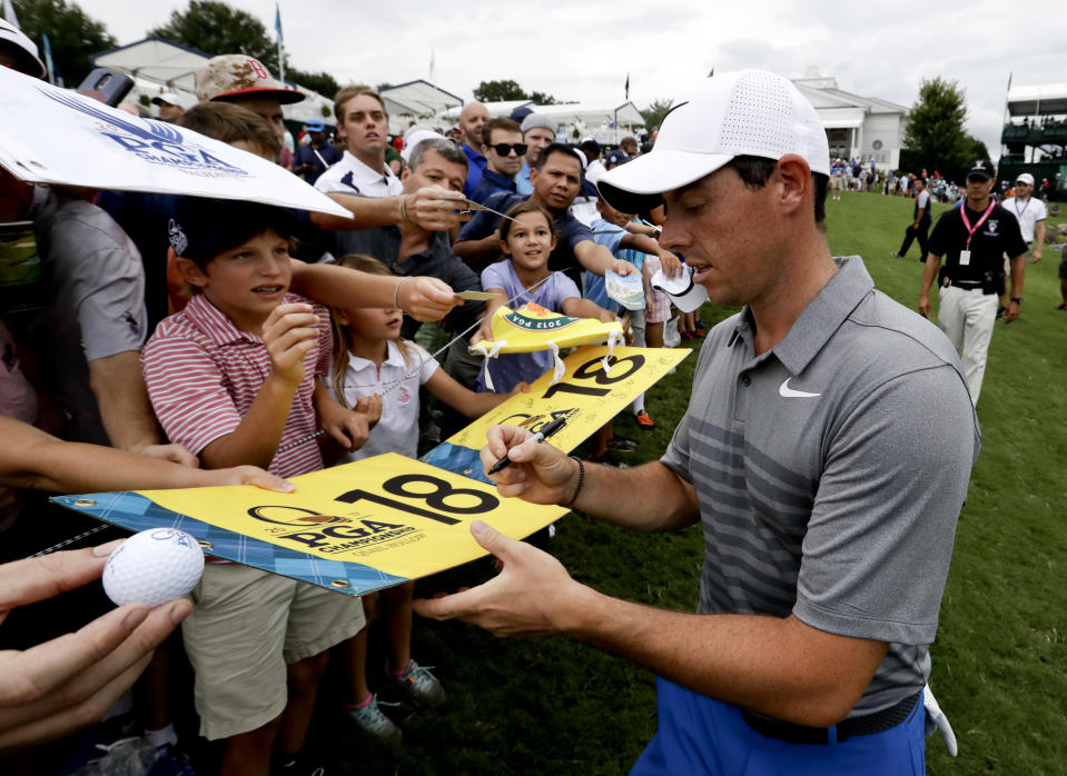
<svg viewBox="0 0 1067 776">
<path fill-rule="evenodd" d="M 367 444 L 345 454 L 343 462 L 362 460 L 383 452 L 399 452 L 416 458 L 418 452 L 418 388 L 437 371 L 438 365 L 424 348 L 405 340 L 407 359 L 396 342 L 389 341 L 389 352 L 378 366 L 366 358 L 348 354 L 345 372 L 345 399 L 356 406 L 360 396 L 377 394 L 383 397 L 382 419 L 371 430 Z M 327 380 L 334 392 L 333 375 Z M 388 392 L 386 394 L 386 389 Z M 334 396 L 334 398 L 337 398 Z"/>
</svg>

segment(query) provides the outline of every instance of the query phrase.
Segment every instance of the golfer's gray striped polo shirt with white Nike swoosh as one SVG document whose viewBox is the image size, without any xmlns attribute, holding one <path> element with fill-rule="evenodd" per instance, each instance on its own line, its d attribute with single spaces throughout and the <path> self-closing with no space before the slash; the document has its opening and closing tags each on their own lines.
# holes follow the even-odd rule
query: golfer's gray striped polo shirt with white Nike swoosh
<svg viewBox="0 0 1067 776">
<path fill-rule="evenodd" d="M 693 484 L 704 533 L 699 614 L 786 617 L 889 641 L 850 716 L 929 676 L 981 439 L 945 335 L 839 265 L 774 348 L 748 308 L 708 335 L 662 461 Z"/>
</svg>

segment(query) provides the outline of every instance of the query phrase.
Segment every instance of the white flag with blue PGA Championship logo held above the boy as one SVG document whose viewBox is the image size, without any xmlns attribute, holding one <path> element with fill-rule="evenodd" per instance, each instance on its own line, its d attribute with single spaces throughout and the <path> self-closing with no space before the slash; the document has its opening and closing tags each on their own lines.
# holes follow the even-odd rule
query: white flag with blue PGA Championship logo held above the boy
<svg viewBox="0 0 1067 776">
<path fill-rule="evenodd" d="M 9 68 L 0 68 L 0 165 L 22 180 L 352 215 L 254 153 Z"/>
</svg>

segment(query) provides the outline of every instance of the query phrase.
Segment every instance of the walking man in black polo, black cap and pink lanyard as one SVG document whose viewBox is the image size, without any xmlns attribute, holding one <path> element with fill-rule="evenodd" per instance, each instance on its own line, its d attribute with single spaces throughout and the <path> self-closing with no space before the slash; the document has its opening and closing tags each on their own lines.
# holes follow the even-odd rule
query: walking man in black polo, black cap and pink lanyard
<svg viewBox="0 0 1067 776">
<path fill-rule="evenodd" d="M 1019 317 L 1027 246 L 1019 222 L 990 198 L 992 167 L 978 159 L 967 171 L 967 199 L 938 219 L 929 239 L 919 312 L 930 317 L 930 287 L 938 279 L 937 321 L 956 346 L 970 400 L 978 404 L 986 374 L 986 351 L 997 320 L 997 297 L 1004 292 L 1004 256 L 1010 257 L 1011 294 L 1005 324 Z M 945 257 L 945 269 L 941 257 Z"/>
</svg>

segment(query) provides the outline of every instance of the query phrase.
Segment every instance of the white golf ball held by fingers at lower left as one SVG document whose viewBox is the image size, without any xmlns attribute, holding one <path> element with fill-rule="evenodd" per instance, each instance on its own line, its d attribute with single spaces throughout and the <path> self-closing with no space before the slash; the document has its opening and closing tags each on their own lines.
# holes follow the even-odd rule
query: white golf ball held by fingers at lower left
<svg viewBox="0 0 1067 776">
<path fill-rule="evenodd" d="M 108 557 L 103 591 L 119 606 L 131 601 L 150 607 L 180 598 L 204 574 L 204 550 L 191 536 L 174 528 L 134 534 Z"/>
</svg>

